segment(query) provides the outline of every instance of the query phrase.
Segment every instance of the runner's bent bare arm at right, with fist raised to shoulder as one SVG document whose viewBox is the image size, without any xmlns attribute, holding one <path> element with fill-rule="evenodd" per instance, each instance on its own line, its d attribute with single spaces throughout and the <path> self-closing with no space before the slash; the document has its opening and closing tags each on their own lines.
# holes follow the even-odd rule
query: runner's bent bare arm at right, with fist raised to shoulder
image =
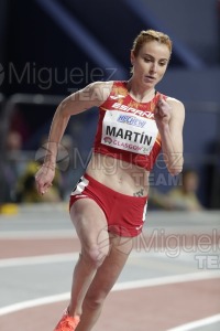
<svg viewBox="0 0 220 331">
<path fill-rule="evenodd" d="M 174 98 L 161 98 L 155 109 L 155 120 L 162 138 L 164 161 L 172 175 L 183 170 L 184 105 Z"/>
</svg>

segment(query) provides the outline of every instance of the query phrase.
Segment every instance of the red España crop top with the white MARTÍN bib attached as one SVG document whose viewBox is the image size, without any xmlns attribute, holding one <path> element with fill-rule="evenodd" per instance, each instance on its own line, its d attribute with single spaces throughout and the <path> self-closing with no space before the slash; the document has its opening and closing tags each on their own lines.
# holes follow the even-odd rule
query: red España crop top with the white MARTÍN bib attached
<svg viewBox="0 0 220 331">
<path fill-rule="evenodd" d="M 114 82 L 109 97 L 99 107 L 94 152 L 150 171 L 162 146 L 154 120 L 154 109 L 161 94 L 156 93 L 148 103 L 138 103 L 129 95 L 127 84 L 127 82 Z"/>
</svg>

